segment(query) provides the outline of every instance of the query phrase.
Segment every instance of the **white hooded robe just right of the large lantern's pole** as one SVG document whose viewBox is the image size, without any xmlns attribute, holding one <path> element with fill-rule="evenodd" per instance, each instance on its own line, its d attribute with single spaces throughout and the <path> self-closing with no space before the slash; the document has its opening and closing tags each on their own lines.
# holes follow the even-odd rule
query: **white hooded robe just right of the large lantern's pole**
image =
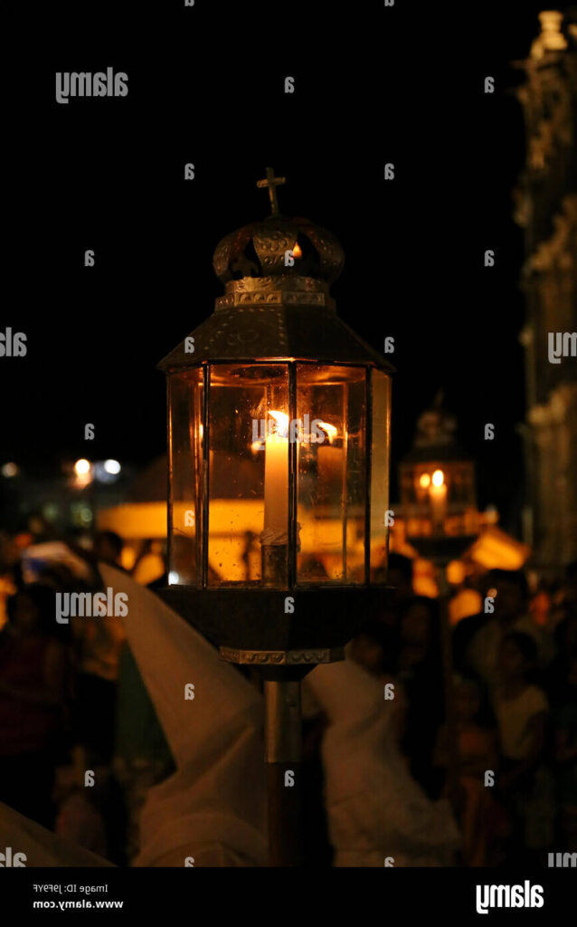
<svg viewBox="0 0 577 927">
<path fill-rule="evenodd" d="M 460 838 L 450 806 L 408 774 L 383 683 L 347 659 L 317 667 L 304 684 L 330 722 L 322 758 L 334 865 L 451 865 Z"/>
</svg>

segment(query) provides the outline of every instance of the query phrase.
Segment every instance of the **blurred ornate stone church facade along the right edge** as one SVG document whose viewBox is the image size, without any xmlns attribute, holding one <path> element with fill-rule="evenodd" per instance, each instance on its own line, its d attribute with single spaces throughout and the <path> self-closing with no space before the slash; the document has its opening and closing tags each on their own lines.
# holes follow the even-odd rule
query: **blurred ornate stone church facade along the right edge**
<svg viewBox="0 0 577 927">
<path fill-rule="evenodd" d="M 523 540 L 537 572 L 555 578 L 577 559 L 577 358 L 551 362 L 549 348 L 577 332 L 577 7 L 539 19 L 516 92 L 526 130 L 514 213 L 525 242 Z"/>
</svg>

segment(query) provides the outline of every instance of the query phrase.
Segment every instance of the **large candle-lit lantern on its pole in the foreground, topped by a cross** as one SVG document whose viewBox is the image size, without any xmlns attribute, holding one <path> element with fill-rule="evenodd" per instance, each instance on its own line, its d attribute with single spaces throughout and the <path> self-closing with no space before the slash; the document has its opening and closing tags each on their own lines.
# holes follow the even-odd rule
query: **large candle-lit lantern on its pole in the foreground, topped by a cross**
<svg viewBox="0 0 577 927">
<path fill-rule="evenodd" d="M 332 233 L 279 214 L 222 239 L 214 313 L 168 378 L 167 601 L 265 680 L 272 865 L 299 856 L 300 680 L 379 607 L 390 374 L 339 320 Z M 294 784 L 293 784 L 294 783 Z"/>
</svg>

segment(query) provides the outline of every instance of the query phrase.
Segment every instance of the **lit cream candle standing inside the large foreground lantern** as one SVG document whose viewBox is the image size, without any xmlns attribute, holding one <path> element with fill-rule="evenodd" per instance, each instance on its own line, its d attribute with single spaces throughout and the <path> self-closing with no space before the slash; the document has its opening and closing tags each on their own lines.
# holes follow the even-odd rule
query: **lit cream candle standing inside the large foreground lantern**
<svg viewBox="0 0 577 927">
<path fill-rule="evenodd" d="M 288 415 L 271 412 L 274 430 L 265 441 L 265 544 L 286 544 L 288 537 Z"/>
</svg>

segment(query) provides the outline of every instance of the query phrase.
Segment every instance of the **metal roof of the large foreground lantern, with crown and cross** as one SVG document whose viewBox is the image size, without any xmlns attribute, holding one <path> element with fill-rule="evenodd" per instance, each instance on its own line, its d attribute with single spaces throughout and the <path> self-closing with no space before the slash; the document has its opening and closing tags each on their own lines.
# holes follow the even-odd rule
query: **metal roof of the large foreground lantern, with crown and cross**
<svg viewBox="0 0 577 927">
<path fill-rule="evenodd" d="M 281 215 L 276 188 L 284 182 L 270 168 L 267 179 L 257 182 L 269 190 L 271 215 L 222 238 L 213 266 L 224 296 L 207 321 L 158 364 L 161 370 L 284 359 L 394 370 L 334 311 L 329 286 L 343 269 L 343 248 L 320 225 Z"/>
</svg>

